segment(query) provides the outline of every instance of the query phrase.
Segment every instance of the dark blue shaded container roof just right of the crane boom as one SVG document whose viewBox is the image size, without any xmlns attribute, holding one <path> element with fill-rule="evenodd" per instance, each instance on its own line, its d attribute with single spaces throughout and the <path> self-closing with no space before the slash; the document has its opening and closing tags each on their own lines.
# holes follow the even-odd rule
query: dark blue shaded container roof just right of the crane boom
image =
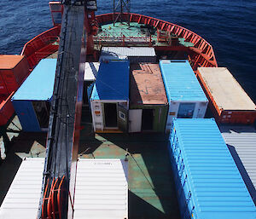
<svg viewBox="0 0 256 219">
<path fill-rule="evenodd" d="M 129 100 L 129 61 L 102 62 L 90 99 Z"/>
</svg>

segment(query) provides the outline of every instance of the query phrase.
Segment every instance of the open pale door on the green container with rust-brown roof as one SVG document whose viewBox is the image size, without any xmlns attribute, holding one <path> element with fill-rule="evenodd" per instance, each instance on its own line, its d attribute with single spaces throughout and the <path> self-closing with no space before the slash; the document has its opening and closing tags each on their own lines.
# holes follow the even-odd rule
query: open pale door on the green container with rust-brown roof
<svg viewBox="0 0 256 219">
<path fill-rule="evenodd" d="M 142 130 L 142 109 L 129 110 L 129 132 L 140 132 Z"/>
</svg>

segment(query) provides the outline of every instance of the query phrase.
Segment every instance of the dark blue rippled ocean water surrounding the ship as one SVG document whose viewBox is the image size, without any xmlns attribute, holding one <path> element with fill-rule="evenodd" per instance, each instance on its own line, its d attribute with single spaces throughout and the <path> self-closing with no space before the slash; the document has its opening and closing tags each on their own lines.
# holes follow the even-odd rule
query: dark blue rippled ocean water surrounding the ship
<svg viewBox="0 0 256 219">
<path fill-rule="evenodd" d="M 52 26 L 49 0 L 0 1 L 0 54 L 20 54 L 32 37 Z M 97 14 L 112 11 L 98 0 Z M 131 12 L 170 21 L 212 44 L 218 66 L 226 66 L 256 102 L 255 0 L 131 0 Z"/>
</svg>

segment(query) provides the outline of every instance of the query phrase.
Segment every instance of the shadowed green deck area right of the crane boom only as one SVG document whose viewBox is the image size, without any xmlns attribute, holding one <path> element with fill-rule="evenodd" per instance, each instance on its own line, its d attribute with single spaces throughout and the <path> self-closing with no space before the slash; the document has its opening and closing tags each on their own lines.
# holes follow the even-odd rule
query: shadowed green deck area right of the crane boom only
<svg viewBox="0 0 256 219">
<path fill-rule="evenodd" d="M 81 131 L 79 153 L 85 152 L 80 157 L 125 158 L 126 148 L 130 153 L 129 218 L 180 218 L 166 135 L 94 135 L 88 130 Z"/>
</svg>

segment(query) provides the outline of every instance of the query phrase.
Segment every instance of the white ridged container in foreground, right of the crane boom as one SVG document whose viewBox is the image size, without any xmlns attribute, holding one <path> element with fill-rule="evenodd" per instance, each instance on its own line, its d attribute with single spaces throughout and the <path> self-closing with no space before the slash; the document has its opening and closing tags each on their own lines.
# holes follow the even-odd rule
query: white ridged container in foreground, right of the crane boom
<svg viewBox="0 0 256 219">
<path fill-rule="evenodd" d="M 128 162 L 79 158 L 74 219 L 128 219 Z"/>
</svg>

